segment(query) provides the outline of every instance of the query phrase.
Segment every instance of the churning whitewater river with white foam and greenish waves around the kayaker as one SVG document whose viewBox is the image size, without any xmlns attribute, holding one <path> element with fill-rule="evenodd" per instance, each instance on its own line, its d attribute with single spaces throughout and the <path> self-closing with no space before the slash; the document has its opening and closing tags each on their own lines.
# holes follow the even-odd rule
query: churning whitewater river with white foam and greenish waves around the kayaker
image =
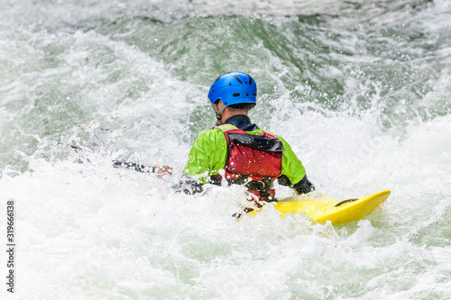
<svg viewBox="0 0 451 300">
<path fill-rule="evenodd" d="M 318 191 L 382 210 L 237 222 L 240 186 L 175 194 L 232 70 Z M 451 1 L 0 1 L 0 298 L 449 299 L 450 239 Z"/>
</svg>

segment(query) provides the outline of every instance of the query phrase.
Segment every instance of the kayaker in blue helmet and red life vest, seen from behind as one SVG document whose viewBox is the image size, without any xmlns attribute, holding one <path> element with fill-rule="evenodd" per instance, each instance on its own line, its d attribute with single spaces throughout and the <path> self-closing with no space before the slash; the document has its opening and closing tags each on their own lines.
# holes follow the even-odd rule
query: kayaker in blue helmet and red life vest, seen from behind
<svg viewBox="0 0 451 300">
<path fill-rule="evenodd" d="M 229 185 L 246 186 L 261 206 L 261 201 L 275 200 L 275 179 L 297 194 L 315 189 L 288 142 L 251 123 L 248 113 L 256 105 L 256 97 L 253 77 L 243 72 L 216 78 L 208 92 L 216 126 L 198 134 L 183 170 L 190 179 L 182 181 L 179 190 L 195 194 L 204 184 L 221 185 L 226 180 Z"/>
</svg>

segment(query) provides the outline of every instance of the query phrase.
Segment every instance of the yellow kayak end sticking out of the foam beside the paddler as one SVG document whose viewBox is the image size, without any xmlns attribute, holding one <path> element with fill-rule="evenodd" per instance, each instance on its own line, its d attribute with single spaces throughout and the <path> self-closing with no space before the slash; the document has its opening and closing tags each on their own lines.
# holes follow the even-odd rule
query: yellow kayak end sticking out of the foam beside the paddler
<svg viewBox="0 0 451 300">
<path fill-rule="evenodd" d="M 294 195 L 273 203 L 274 207 L 285 214 L 304 214 L 309 219 L 317 223 L 341 224 L 351 221 L 358 221 L 365 215 L 373 213 L 374 209 L 387 199 L 390 191 L 382 191 L 374 195 L 353 198 L 348 200 L 337 200 L 330 198 L 318 198 L 306 195 Z M 268 204 L 268 205 L 270 205 Z M 262 207 L 264 209 L 264 206 Z M 253 211 L 249 214 L 258 214 Z"/>
</svg>

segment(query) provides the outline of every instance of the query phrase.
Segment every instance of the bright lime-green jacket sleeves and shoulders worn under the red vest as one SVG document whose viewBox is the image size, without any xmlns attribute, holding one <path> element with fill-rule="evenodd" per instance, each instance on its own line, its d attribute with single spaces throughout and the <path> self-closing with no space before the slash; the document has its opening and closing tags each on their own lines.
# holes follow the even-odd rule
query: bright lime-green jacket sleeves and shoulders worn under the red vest
<svg viewBox="0 0 451 300">
<path fill-rule="evenodd" d="M 262 132 L 262 129 L 258 129 L 247 133 Z M 277 136 L 285 148 L 285 151 L 282 151 L 281 175 L 288 177 L 292 185 L 297 184 L 305 176 L 306 169 L 287 141 L 277 134 L 268 133 Z M 189 151 L 188 163 L 183 169 L 183 174 L 198 176 L 202 183 L 207 183 L 208 177 L 218 174 L 219 170 L 226 166 L 226 159 L 227 142 L 224 132 L 219 127 L 200 132 Z"/>
</svg>

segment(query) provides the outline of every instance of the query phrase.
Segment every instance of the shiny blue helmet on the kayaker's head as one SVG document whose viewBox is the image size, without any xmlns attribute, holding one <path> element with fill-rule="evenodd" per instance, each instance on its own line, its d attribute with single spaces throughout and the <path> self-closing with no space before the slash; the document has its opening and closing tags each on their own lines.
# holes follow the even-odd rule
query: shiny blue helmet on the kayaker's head
<svg viewBox="0 0 451 300">
<path fill-rule="evenodd" d="M 253 77 L 243 72 L 230 72 L 217 77 L 208 92 L 211 104 L 222 100 L 225 106 L 257 103 L 257 85 Z"/>
</svg>

